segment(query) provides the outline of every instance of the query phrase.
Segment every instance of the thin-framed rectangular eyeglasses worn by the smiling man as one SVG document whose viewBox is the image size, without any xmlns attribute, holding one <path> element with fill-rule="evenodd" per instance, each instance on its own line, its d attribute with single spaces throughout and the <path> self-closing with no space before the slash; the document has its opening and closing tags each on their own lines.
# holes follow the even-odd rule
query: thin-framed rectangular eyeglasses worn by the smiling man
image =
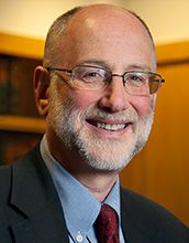
<svg viewBox="0 0 189 243">
<path fill-rule="evenodd" d="M 77 65 L 73 70 L 47 67 L 47 71 L 60 71 L 70 76 L 67 82 L 73 87 L 86 91 L 104 91 L 113 76 L 122 77 L 125 92 L 131 95 L 147 96 L 155 94 L 165 81 L 157 73 L 144 71 L 127 71 L 121 74 L 110 70 L 92 66 Z M 65 81 L 65 80 L 64 80 Z"/>
</svg>

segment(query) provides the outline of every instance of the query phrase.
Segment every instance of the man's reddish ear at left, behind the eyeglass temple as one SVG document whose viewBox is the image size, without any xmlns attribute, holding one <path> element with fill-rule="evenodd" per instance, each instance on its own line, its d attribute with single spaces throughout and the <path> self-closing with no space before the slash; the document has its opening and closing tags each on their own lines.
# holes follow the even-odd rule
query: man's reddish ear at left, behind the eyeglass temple
<svg viewBox="0 0 189 243">
<path fill-rule="evenodd" d="M 42 116 L 48 114 L 49 75 L 46 68 L 37 66 L 33 76 L 34 96 L 36 107 Z"/>
</svg>

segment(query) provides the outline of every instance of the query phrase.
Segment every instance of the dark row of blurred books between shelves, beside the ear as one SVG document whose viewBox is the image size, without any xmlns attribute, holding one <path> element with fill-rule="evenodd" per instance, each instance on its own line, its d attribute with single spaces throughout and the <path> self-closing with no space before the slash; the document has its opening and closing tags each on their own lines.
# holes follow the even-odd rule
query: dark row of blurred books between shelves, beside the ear
<svg viewBox="0 0 189 243">
<path fill-rule="evenodd" d="M 33 72 L 40 60 L 0 55 L 0 114 L 38 116 Z"/>
</svg>

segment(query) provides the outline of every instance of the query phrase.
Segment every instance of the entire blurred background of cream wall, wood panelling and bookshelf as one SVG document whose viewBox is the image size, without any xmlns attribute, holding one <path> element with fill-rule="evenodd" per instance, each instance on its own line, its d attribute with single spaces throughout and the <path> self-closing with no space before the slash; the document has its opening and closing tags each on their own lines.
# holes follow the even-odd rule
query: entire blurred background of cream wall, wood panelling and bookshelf
<svg viewBox="0 0 189 243">
<path fill-rule="evenodd" d="M 123 187 L 163 204 L 189 225 L 189 1 L 0 0 L 0 162 L 11 163 L 45 130 L 32 91 L 52 22 L 73 7 L 113 3 L 136 12 L 157 49 L 159 89 L 144 150 L 121 173 Z"/>
</svg>

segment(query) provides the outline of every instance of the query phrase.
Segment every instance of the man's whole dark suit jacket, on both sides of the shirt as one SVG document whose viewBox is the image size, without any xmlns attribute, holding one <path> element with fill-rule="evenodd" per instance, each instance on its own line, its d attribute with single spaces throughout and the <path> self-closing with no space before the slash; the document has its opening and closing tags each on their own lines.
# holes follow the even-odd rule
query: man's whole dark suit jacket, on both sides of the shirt
<svg viewBox="0 0 189 243">
<path fill-rule="evenodd" d="M 189 230 L 162 207 L 121 189 L 129 243 L 189 243 Z M 0 169 L 0 243 L 68 243 L 60 202 L 38 148 Z"/>
</svg>

